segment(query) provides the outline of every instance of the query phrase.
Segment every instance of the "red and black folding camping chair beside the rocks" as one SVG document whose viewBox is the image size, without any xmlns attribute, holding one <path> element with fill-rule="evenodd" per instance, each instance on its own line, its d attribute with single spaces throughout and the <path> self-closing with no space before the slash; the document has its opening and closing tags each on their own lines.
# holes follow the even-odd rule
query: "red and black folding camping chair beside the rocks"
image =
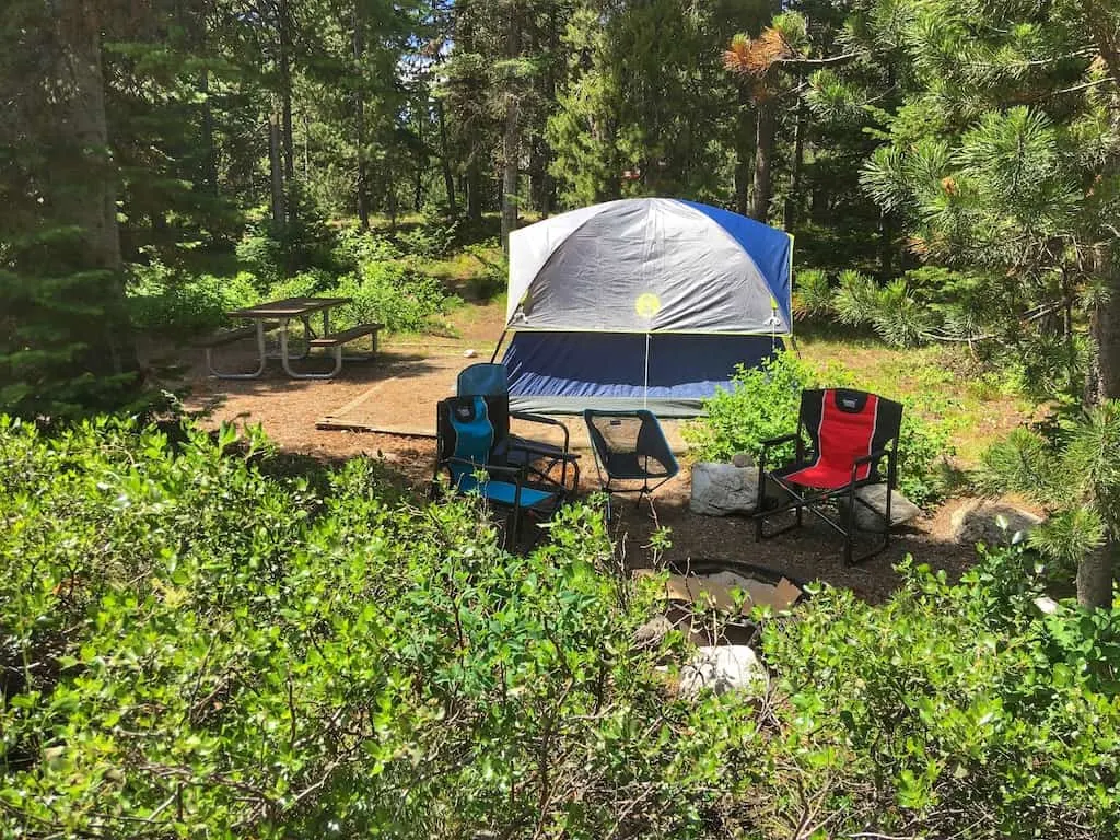
<svg viewBox="0 0 1120 840">
<path fill-rule="evenodd" d="M 843 536 L 843 559 L 849 564 L 883 551 L 890 540 L 890 494 L 897 479 L 898 433 L 903 420 L 902 403 L 864 391 L 842 388 L 803 391 L 797 431 L 763 441 L 758 458 L 758 512 L 755 539 L 777 536 L 802 524 L 808 510 Z M 808 446 L 806 446 L 808 441 Z M 794 444 L 791 464 L 767 469 L 766 457 L 777 446 Z M 767 504 L 767 484 L 773 483 L 780 498 Z M 886 505 L 880 511 L 857 493 L 861 487 L 886 484 Z M 844 502 L 836 517 L 821 508 Z M 853 560 L 852 536 L 856 505 L 860 504 L 883 519 L 883 539 Z M 795 512 L 795 521 L 766 533 L 766 520 Z"/>
</svg>

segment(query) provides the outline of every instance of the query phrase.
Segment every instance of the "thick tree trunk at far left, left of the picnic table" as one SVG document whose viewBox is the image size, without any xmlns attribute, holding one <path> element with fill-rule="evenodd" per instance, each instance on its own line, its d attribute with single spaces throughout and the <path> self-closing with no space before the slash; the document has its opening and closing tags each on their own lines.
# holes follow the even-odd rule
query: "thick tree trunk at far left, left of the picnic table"
<svg viewBox="0 0 1120 840">
<path fill-rule="evenodd" d="M 97 16 L 84 3 L 65 3 L 56 31 L 62 46 L 58 78 L 69 82 L 60 85 L 60 128 L 67 134 L 65 140 L 78 152 L 83 171 L 80 179 L 57 185 L 59 188 L 54 190 L 52 204 L 58 221 L 82 231 L 76 268 L 101 273 L 100 279 L 88 281 L 82 297 L 104 314 L 96 325 L 91 324 L 87 315 L 82 316 L 76 334 L 82 336 L 85 347 L 74 362 L 77 370 L 99 377 L 130 374 L 140 365 L 124 298 L 115 171 L 110 155 L 101 64 L 101 26 Z"/>
</svg>

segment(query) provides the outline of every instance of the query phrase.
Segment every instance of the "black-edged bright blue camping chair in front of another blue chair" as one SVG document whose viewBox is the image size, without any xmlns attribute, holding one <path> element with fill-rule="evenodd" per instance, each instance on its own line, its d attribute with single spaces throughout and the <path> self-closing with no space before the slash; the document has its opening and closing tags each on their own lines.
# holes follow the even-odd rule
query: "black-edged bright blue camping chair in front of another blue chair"
<svg viewBox="0 0 1120 840">
<path fill-rule="evenodd" d="M 446 474 L 452 493 L 482 496 L 508 512 L 506 535 L 521 535 L 523 514 L 551 516 L 564 497 L 561 485 L 531 486 L 525 466 L 495 463 L 495 435 L 486 400 L 478 395 L 449 396 L 437 405 L 433 488 Z"/>
</svg>

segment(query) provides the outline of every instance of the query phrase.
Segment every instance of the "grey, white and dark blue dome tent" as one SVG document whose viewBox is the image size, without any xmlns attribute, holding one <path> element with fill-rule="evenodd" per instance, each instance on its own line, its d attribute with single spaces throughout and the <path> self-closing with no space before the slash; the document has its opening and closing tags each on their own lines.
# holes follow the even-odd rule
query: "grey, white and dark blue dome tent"
<svg viewBox="0 0 1120 840">
<path fill-rule="evenodd" d="M 626 198 L 510 235 L 510 405 L 696 417 L 791 333 L 792 237 L 736 213 Z M 495 351 L 495 357 L 497 351 Z"/>
</svg>

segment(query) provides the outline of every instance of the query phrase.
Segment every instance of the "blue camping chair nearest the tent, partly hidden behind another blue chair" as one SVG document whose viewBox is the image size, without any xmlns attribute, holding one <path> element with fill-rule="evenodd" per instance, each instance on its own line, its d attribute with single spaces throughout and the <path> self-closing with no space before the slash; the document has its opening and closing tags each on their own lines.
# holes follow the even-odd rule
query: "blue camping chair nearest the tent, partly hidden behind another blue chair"
<svg viewBox="0 0 1120 840">
<path fill-rule="evenodd" d="M 571 491 L 579 488 L 579 456 L 569 451 L 568 427 L 559 420 L 526 411 L 510 411 L 508 376 L 503 364 L 480 362 L 459 371 L 455 392 L 458 396 L 479 395 L 486 400 L 491 426 L 494 427 L 494 461 L 511 467 L 524 467 L 533 480 L 556 484 L 553 470 L 560 467 L 559 484 Z M 531 440 L 510 431 L 510 420 L 540 423 L 563 433 L 563 445 L 557 446 L 542 440 Z"/>
</svg>

